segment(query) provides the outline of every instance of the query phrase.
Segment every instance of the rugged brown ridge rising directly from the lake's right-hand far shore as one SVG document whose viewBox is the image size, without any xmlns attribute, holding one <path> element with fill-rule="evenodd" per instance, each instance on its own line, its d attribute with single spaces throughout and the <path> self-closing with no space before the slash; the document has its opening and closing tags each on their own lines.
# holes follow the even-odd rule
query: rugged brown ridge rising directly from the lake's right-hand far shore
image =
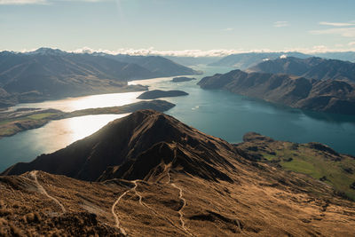
<svg viewBox="0 0 355 237">
<path fill-rule="evenodd" d="M 337 80 L 314 80 L 289 75 L 233 70 L 198 83 L 203 89 L 223 89 L 288 107 L 355 115 L 355 86 Z"/>
</svg>

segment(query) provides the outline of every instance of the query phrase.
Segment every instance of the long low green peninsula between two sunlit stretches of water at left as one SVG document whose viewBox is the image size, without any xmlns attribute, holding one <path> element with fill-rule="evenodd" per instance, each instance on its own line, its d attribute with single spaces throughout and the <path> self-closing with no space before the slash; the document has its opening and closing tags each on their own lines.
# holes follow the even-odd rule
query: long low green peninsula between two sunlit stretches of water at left
<svg viewBox="0 0 355 237">
<path fill-rule="evenodd" d="M 62 112 L 57 109 L 17 109 L 12 112 L 0 113 L 0 139 L 10 137 L 22 130 L 31 130 L 42 127 L 52 120 L 73 118 L 84 115 L 120 115 L 132 113 L 140 109 L 154 109 L 156 111 L 167 111 L 174 104 L 165 100 L 139 101 L 121 107 L 97 107 L 75 110 L 73 112 Z"/>
</svg>

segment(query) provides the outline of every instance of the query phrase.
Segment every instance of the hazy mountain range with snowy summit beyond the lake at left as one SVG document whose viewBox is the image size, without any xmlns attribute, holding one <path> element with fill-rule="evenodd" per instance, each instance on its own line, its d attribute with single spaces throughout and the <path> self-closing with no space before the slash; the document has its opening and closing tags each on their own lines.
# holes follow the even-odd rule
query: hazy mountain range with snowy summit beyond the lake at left
<svg viewBox="0 0 355 237">
<path fill-rule="evenodd" d="M 123 59 L 126 61 L 120 61 Z M 93 93 L 145 91 L 145 87 L 127 86 L 127 82 L 196 73 L 162 57 L 108 57 L 48 48 L 27 53 L 2 51 L 0 105 Z"/>
</svg>

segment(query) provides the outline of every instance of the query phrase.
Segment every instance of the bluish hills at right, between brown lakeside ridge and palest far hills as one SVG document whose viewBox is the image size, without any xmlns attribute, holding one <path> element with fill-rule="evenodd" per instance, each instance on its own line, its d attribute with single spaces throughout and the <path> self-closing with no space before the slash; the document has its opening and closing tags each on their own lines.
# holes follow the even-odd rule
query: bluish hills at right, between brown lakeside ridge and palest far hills
<svg viewBox="0 0 355 237">
<path fill-rule="evenodd" d="M 267 60 L 248 71 L 304 76 L 316 80 L 348 80 L 355 82 L 355 63 L 336 59 L 307 58 Z"/>
</svg>

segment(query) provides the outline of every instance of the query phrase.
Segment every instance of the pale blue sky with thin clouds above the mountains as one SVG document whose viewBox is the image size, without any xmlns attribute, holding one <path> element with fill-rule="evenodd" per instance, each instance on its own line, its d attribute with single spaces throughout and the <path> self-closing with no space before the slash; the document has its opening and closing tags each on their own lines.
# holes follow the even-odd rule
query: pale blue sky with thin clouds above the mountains
<svg viewBox="0 0 355 237">
<path fill-rule="evenodd" d="M 0 0 L 0 51 L 355 51 L 353 0 Z"/>
</svg>

